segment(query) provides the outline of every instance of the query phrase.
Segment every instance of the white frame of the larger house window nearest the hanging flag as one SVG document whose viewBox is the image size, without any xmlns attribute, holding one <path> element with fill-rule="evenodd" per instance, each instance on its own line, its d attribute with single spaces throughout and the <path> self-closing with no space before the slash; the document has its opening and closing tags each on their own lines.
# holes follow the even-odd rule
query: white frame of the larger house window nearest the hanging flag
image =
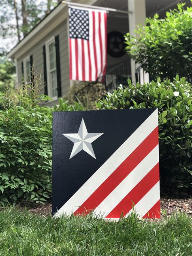
<svg viewBox="0 0 192 256">
<path fill-rule="evenodd" d="M 58 96 L 52 96 L 52 86 L 51 86 L 51 79 L 50 79 L 50 72 L 53 70 L 50 70 L 50 59 L 49 59 L 49 45 L 54 43 L 55 45 L 55 37 L 51 37 L 46 43 L 45 43 L 45 52 L 46 52 L 46 67 L 47 67 L 47 91 L 48 91 L 48 96 L 52 98 L 52 100 L 58 100 Z M 55 49 L 55 47 L 54 47 Z M 56 71 L 56 84 L 58 88 L 58 81 L 57 81 L 57 64 L 56 64 L 56 49 L 55 49 L 55 69 Z M 52 101 L 49 100 L 49 101 Z"/>
</svg>

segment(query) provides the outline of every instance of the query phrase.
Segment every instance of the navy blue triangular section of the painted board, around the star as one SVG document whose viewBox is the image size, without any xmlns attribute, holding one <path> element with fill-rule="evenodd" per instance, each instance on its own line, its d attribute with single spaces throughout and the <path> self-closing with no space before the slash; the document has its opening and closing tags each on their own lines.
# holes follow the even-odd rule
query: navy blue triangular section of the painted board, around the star
<svg viewBox="0 0 192 256">
<path fill-rule="evenodd" d="M 53 213 L 75 194 L 154 110 L 53 112 Z M 96 159 L 83 150 L 69 159 L 74 143 L 62 133 L 77 133 L 82 118 L 88 133 L 104 132 L 92 143 Z"/>
</svg>

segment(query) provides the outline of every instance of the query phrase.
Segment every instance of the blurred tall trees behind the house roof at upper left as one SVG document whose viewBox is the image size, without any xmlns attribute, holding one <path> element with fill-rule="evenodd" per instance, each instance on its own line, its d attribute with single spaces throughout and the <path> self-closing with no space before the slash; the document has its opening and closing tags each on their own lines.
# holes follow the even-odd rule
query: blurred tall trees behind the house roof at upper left
<svg viewBox="0 0 192 256">
<path fill-rule="evenodd" d="M 14 87 L 15 65 L 6 53 L 57 5 L 57 0 L 1 0 L 0 91 Z"/>
</svg>

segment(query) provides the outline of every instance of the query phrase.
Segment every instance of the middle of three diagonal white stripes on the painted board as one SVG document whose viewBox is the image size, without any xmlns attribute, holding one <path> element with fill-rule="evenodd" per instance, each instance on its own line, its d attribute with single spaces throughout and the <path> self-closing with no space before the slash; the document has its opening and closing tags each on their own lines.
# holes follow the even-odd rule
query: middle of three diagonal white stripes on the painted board
<svg viewBox="0 0 192 256">
<path fill-rule="evenodd" d="M 120 201 L 159 162 L 158 145 L 132 170 L 131 173 L 94 210 L 96 215 L 107 216 Z"/>
</svg>

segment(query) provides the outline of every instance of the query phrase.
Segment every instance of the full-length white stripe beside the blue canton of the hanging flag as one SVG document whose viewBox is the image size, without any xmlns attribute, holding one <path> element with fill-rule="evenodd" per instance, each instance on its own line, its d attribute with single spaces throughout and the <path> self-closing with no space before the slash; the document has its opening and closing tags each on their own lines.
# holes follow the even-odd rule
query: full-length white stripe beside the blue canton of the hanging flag
<svg viewBox="0 0 192 256">
<path fill-rule="evenodd" d="M 91 73 L 92 81 L 95 81 L 95 58 L 94 58 L 94 45 L 93 45 L 93 16 L 92 11 L 89 11 L 89 44 L 90 44 L 90 59 L 91 59 Z"/>
</svg>

